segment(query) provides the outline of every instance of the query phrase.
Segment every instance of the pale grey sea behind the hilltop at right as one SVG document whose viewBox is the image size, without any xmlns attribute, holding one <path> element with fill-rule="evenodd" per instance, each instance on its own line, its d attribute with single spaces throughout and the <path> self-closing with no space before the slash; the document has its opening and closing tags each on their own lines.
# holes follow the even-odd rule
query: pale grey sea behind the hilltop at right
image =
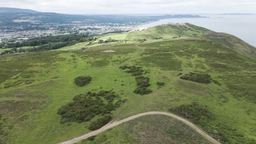
<svg viewBox="0 0 256 144">
<path fill-rule="evenodd" d="M 150 22 L 141 27 L 154 27 L 167 23 L 188 22 L 196 26 L 205 27 L 215 32 L 235 35 L 246 43 L 256 47 L 256 15 L 203 15 L 207 18 L 179 18 L 163 19 Z"/>
</svg>

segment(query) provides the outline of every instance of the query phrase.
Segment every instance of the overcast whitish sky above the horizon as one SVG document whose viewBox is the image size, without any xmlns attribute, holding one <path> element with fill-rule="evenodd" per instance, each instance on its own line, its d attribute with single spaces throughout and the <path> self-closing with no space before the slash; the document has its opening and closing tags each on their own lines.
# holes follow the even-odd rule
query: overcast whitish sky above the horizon
<svg viewBox="0 0 256 144">
<path fill-rule="evenodd" d="M 0 7 L 63 14 L 256 14 L 256 0 L 0 0 Z"/>
</svg>

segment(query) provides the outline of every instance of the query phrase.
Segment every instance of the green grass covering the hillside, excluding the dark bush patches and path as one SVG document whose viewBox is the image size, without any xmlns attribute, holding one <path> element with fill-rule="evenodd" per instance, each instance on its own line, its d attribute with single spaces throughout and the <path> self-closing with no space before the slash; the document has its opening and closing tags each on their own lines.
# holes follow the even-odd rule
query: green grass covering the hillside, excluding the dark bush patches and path
<svg viewBox="0 0 256 144">
<path fill-rule="evenodd" d="M 173 26 L 167 29 L 173 29 Z M 160 30 L 159 33 L 164 31 Z M 155 30 L 146 31 L 143 33 L 155 33 Z M 57 111 L 71 103 L 75 95 L 110 90 L 120 95 L 121 99 L 127 99 L 110 113 L 114 120 L 147 111 L 168 112 L 173 107 L 196 102 L 207 106 L 205 109 L 214 116 L 211 121 L 214 127 L 197 123 L 207 133 L 216 139 L 221 138 L 223 143 L 255 142 L 255 58 L 251 57 L 251 53 L 246 57 L 217 39 L 203 38 L 201 35 L 208 30 L 195 27 L 193 31 L 197 31 L 199 36 L 191 39 L 160 39 L 154 43 L 154 40 L 148 40 L 143 43 L 95 44 L 86 50 L 79 50 L 84 45 L 82 43 L 77 44 L 75 49 L 78 50 L 72 51 L 67 51 L 69 47 L 63 47 L 63 51 L 0 56 L 0 143 L 57 143 L 88 133 L 89 124 L 101 115 L 88 122 L 61 123 Z M 184 35 L 194 34 L 193 31 L 184 32 Z M 170 30 L 168 33 L 171 33 L 168 37 L 176 35 L 176 31 Z M 136 34 L 135 38 L 138 37 Z M 106 50 L 114 52 L 103 52 Z M 150 79 L 148 88 L 153 92 L 147 95 L 133 93 L 136 89 L 135 76 L 119 69 L 123 65 L 142 67 L 145 72 L 143 76 Z M 194 79 L 199 82 L 180 79 L 180 76 L 190 72 L 210 75 L 211 83 L 200 83 L 198 77 Z M 91 76 L 92 80 L 88 85 L 78 87 L 74 83 L 78 76 Z M 157 82 L 166 85 L 160 87 L 156 85 Z M 95 142 L 106 139 L 124 140 L 125 143 L 127 135 L 132 137 L 127 143 L 145 141 L 154 133 L 136 137 L 139 130 L 135 126 L 128 128 L 129 125 L 146 129 L 147 124 L 155 128 L 174 121 L 161 117 L 162 121 L 160 117 L 152 116 L 125 123 L 96 136 Z M 148 121 L 142 124 L 145 119 Z M 154 125 L 155 121 L 164 124 Z M 168 126 L 171 127 L 178 130 L 174 131 L 175 134 L 169 131 L 170 135 L 164 135 L 164 139 L 182 142 L 179 137 L 182 131 L 190 131 L 186 127 L 182 129 L 176 121 Z M 159 133 L 165 133 L 159 130 Z M 195 140 L 195 143 L 203 141 L 198 134 L 194 138 L 187 137 L 184 143 L 188 139 Z"/>
</svg>

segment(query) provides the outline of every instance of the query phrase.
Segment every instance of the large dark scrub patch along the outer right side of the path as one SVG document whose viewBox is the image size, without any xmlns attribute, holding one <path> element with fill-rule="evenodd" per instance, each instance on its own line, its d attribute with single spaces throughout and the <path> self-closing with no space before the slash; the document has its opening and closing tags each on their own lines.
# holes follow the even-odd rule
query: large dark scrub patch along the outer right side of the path
<svg viewBox="0 0 256 144">
<path fill-rule="evenodd" d="M 224 122 L 219 122 L 213 113 L 207 109 L 207 106 L 198 103 L 190 105 L 181 105 L 170 109 L 169 111 L 180 116 L 188 118 L 193 123 L 200 125 L 214 139 L 219 139 L 222 143 L 250 143 L 254 140 L 246 138 L 243 133 L 230 127 Z"/>
</svg>

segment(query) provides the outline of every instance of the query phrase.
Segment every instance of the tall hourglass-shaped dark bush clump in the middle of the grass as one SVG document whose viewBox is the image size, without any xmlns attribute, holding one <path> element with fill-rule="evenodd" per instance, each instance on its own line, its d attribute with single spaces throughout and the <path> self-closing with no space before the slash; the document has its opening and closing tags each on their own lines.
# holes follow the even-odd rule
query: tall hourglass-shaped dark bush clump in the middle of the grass
<svg viewBox="0 0 256 144">
<path fill-rule="evenodd" d="M 133 91 L 134 93 L 144 95 L 153 92 L 151 89 L 147 88 L 150 86 L 149 77 L 138 76 L 135 80 L 137 82 L 137 88 Z"/>
</svg>

